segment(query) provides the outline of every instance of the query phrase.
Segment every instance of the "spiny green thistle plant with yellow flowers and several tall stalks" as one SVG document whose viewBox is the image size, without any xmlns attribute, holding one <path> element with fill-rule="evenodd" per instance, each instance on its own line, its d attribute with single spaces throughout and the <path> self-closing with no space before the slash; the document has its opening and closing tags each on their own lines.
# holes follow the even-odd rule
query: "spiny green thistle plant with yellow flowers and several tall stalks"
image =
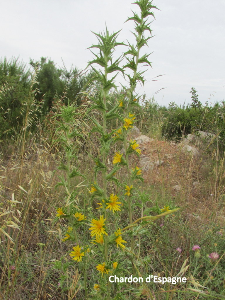
<svg viewBox="0 0 225 300">
<path fill-rule="evenodd" d="M 148 0 L 139 0 L 135 4 L 140 7 L 141 16 L 134 13 L 134 16 L 128 20 L 135 22 L 136 45 L 128 42 L 128 51 L 114 59 L 115 48 L 125 46 L 125 44 L 117 42 L 119 32 L 110 34 L 106 27 L 105 32 L 94 33 L 98 44 L 89 48 L 94 55 L 94 59 L 88 63 L 94 72 L 92 80 L 98 82 L 102 89 L 98 97 L 88 95 L 91 105 L 86 115 L 93 122 L 90 135 L 95 133 L 101 148 L 98 155 L 93 158 L 95 166 L 91 173 L 92 179 L 89 182 L 88 191 L 84 189 L 79 191 L 79 197 L 84 199 L 83 209 L 76 205 L 77 189 L 71 189 L 70 182 L 73 177 L 71 174 L 81 176 L 81 173 L 71 166 L 71 158 L 76 156 L 76 153 L 70 140 L 75 136 L 79 137 L 77 129 L 70 131 L 69 127 L 75 116 L 75 108 L 64 107 L 61 113 L 64 123 L 60 125 L 59 130 L 64 134 L 61 134 L 59 139 L 65 149 L 67 163 L 61 163 L 60 168 L 65 170 L 67 175 L 60 177 L 60 184 L 66 190 L 67 201 L 64 207 L 58 208 L 56 217 L 70 222 L 62 241 L 72 242 L 69 256 L 76 262 L 76 265 L 79 264 L 80 286 L 85 291 L 86 299 L 89 296 L 96 299 L 116 297 L 112 283 L 108 282 L 108 275 L 119 275 L 123 270 L 123 263 L 132 265 L 133 274 L 140 275 L 137 267 L 141 264 L 140 247 L 138 253 L 135 253 L 134 237 L 138 236 L 140 241 L 140 235 L 147 232 L 145 227 L 158 218 L 176 211 L 176 209 L 160 211 L 157 216 L 143 216 L 142 203 L 141 217 L 135 218 L 133 215 L 138 202 L 137 200 L 134 202 L 134 199 L 137 199 L 140 194 L 137 180 L 143 181 L 143 178 L 141 177 L 142 170 L 138 166 L 134 168 L 130 166 L 130 155 L 140 155 L 141 151 L 136 140 L 128 139 L 128 132 L 136 120 L 131 110 L 139 105 L 138 96 L 134 95 L 135 87 L 137 82 L 144 83 L 143 71 L 138 71 L 138 67 L 142 63 L 151 65 L 148 61 L 149 55 L 145 54 L 140 57 L 140 50 L 151 38 L 145 38 L 144 33 L 146 30 L 151 33 L 147 18 L 154 16 L 151 9 L 156 8 Z M 93 49 L 97 51 L 94 52 Z M 122 67 L 124 58 L 127 63 Z M 126 71 L 128 68 L 133 73 L 128 74 Z M 125 90 L 123 98 L 113 102 L 110 100 L 110 95 L 117 91 L 115 80 L 118 73 L 127 77 L 129 83 L 127 87 L 123 86 Z M 116 121 L 116 124 L 120 123 L 120 126 L 109 128 L 107 126 L 109 120 Z M 124 151 L 118 149 L 112 152 L 113 146 L 119 147 L 121 142 Z M 120 178 L 119 172 L 126 174 L 123 179 Z M 142 201 L 143 198 L 143 196 L 140 197 L 140 200 Z M 95 206 L 97 206 L 96 209 L 92 209 Z M 69 209 L 66 211 L 65 207 Z M 123 215 L 128 215 L 128 218 L 122 217 Z M 58 264 L 57 262 L 56 265 Z M 87 277 L 91 277 L 89 283 Z M 149 297 L 153 298 L 147 286 L 146 289 Z"/>
</svg>

